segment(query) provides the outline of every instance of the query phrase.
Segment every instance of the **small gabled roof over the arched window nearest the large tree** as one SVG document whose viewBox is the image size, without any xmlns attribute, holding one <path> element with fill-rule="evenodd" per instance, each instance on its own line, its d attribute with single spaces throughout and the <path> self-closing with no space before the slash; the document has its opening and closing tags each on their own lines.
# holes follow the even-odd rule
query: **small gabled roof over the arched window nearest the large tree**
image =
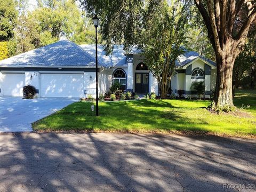
<svg viewBox="0 0 256 192">
<path fill-rule="evenodd" d="M 216 63 L 211 61 L 210 59 L 206 59 L 204 57 L 201 57 L 197 52 L 195 51 L 187 51 L 183 55 L 180 55 L 179 59 L 175 61 L 176 67 L 183 67 L 187 65 L 188 63 L 192 62 L 193 60 L 201 58 L 206 62 L 209 62 L 211 65 L 216 66 Z"/>
</svg>

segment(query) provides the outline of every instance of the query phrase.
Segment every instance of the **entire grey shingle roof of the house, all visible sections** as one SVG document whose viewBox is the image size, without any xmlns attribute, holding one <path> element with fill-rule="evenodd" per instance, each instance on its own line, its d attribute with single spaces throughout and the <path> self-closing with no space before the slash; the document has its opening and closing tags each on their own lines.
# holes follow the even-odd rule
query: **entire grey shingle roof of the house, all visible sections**
<svg viewBox="0 0 256 192">
<path fill-rule="evenodd" d="M 98 63 L 102 67 L 114 67 L 126 65 L 126 54 L 123 50 L 123 45 L 115 45 L 114 50 L 110 55 L 106 55 L 103 51 L 103 46 L 98 45 Z M 141 54 L 141 50 L 133 49 L 129 54 Z M 175 62 L 177 67 L 183 67 L 195 60 L 201 58 L 213 66 L 216 64 L 206 58 L 199 56 L 197 52 L 188 51 L 181 55 Z M 95 45 L 76 45 L 68 40 L 62 40 L 57 43 L 46 45 L 38 49 L 28 51 L 14 57 L 0 61 L 0 66 L 77 66 L 77 67 L 95 67 Z"/>
</svg>

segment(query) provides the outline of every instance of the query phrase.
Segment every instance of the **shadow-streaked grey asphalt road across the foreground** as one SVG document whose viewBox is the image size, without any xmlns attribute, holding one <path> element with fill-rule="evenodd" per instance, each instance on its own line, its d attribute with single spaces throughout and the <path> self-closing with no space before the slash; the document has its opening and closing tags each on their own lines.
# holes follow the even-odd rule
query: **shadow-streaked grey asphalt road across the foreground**
<svg viewBox="0 0 256 192">
<path fill-rule="evenodd" d="M 255 191 L 253 185 L 255 139 L 0 134 L 0 191 Z"/>
</svg>

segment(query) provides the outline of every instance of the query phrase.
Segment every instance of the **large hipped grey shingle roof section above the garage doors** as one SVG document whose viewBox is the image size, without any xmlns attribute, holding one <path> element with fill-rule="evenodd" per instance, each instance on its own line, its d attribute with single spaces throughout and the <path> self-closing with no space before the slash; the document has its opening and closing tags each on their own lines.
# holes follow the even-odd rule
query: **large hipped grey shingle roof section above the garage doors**
<svg viewBox="0 0 256 192">
<path fill-rule="evenodd" d="M 99 62 L 100 66 L 105 66 Z M 67 40 L 0 61 L 0 66 L 95 66 L 95 58 Z"/>
</svg>

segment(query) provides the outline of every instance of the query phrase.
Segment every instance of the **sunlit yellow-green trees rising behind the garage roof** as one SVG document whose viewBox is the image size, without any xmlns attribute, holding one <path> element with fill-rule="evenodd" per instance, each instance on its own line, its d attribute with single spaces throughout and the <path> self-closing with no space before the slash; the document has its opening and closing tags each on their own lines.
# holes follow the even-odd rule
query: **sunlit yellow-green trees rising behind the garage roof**
<svg viewBox="0 0 256 192">
<path fill-rule="evenodd" d="M 57 42 L 62 37 L 77 44 L 94 43 L 91 19 L 86 18 L 72 0 L 38 0 L 32 11 L 27 8 L 28 0 L 17 2 L 18 22 L 7 43 L 10 57 Z"/>
</svg>

